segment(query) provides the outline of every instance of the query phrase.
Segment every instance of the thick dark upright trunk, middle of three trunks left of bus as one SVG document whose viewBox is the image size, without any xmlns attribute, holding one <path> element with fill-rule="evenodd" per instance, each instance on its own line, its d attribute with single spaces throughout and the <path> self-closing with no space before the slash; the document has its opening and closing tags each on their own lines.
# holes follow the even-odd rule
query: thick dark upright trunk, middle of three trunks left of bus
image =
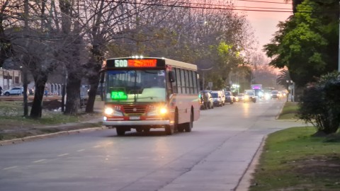
<svg viewBox="0 0 340 191">
<path fill-rule="evenodd" d="M 66 86 L 66 108 L 64 114 L 77 115 L 80 108 L 80 86 L 79 72 L 72 71 L 67 75 Z"/>
</svg>

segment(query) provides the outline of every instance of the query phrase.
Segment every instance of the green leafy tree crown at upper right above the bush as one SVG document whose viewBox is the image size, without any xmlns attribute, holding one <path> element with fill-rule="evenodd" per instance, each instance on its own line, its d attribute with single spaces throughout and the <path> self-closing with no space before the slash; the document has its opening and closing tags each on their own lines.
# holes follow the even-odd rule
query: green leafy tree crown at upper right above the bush
<svg viewBox="0 0 340 191">
<path fill-rule="evenodd" d="M 327 10 L 327 11 L 325 11 Z M 297 86 L 337 68 L 339 1 L 305 0 L 264 46 L 271 65 L 288 67 Z"/>
</svg>

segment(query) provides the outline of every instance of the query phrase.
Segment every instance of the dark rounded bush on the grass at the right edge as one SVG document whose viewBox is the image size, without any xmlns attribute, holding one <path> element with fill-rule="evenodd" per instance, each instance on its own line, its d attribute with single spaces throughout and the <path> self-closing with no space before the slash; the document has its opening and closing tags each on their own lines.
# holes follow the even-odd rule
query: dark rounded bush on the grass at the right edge
<svg viewBox="0 0 340 191">
<path fill-rule="evenodd" d="M 340 125 L 340 73 L 322 76 L 305 89 L 299 102 L 298 116 L 325 134 L 335 133 Z"/>
</svg>

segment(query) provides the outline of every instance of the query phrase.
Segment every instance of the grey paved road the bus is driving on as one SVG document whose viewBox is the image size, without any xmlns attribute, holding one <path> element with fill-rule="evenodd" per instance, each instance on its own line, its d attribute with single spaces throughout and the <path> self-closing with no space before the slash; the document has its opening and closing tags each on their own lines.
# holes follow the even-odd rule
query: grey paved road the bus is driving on
<svg viewBox="0 0 340 191">
<path fill-rule="evenodd" d="M 0 146 L 0 190 L 235 190 L 266 134 L 303 125 L 275 120 L 282 105 L 203 110 L 172 136 L 106 129 Z"/>
</svg>

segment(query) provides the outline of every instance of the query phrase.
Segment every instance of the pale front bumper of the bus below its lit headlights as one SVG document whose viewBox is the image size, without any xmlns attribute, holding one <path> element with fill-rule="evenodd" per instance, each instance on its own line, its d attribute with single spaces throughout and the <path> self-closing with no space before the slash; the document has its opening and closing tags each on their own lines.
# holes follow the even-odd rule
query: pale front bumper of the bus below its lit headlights
<svg viewBox="0 0 340 191">
<path fill-rule="evenodd" d="M 108 121 L 103 120 L 106 126 L 128 126 L 128 125 L 171 125 L 169 120 L 127 120 L 127 121 Z"/>
</svg>

